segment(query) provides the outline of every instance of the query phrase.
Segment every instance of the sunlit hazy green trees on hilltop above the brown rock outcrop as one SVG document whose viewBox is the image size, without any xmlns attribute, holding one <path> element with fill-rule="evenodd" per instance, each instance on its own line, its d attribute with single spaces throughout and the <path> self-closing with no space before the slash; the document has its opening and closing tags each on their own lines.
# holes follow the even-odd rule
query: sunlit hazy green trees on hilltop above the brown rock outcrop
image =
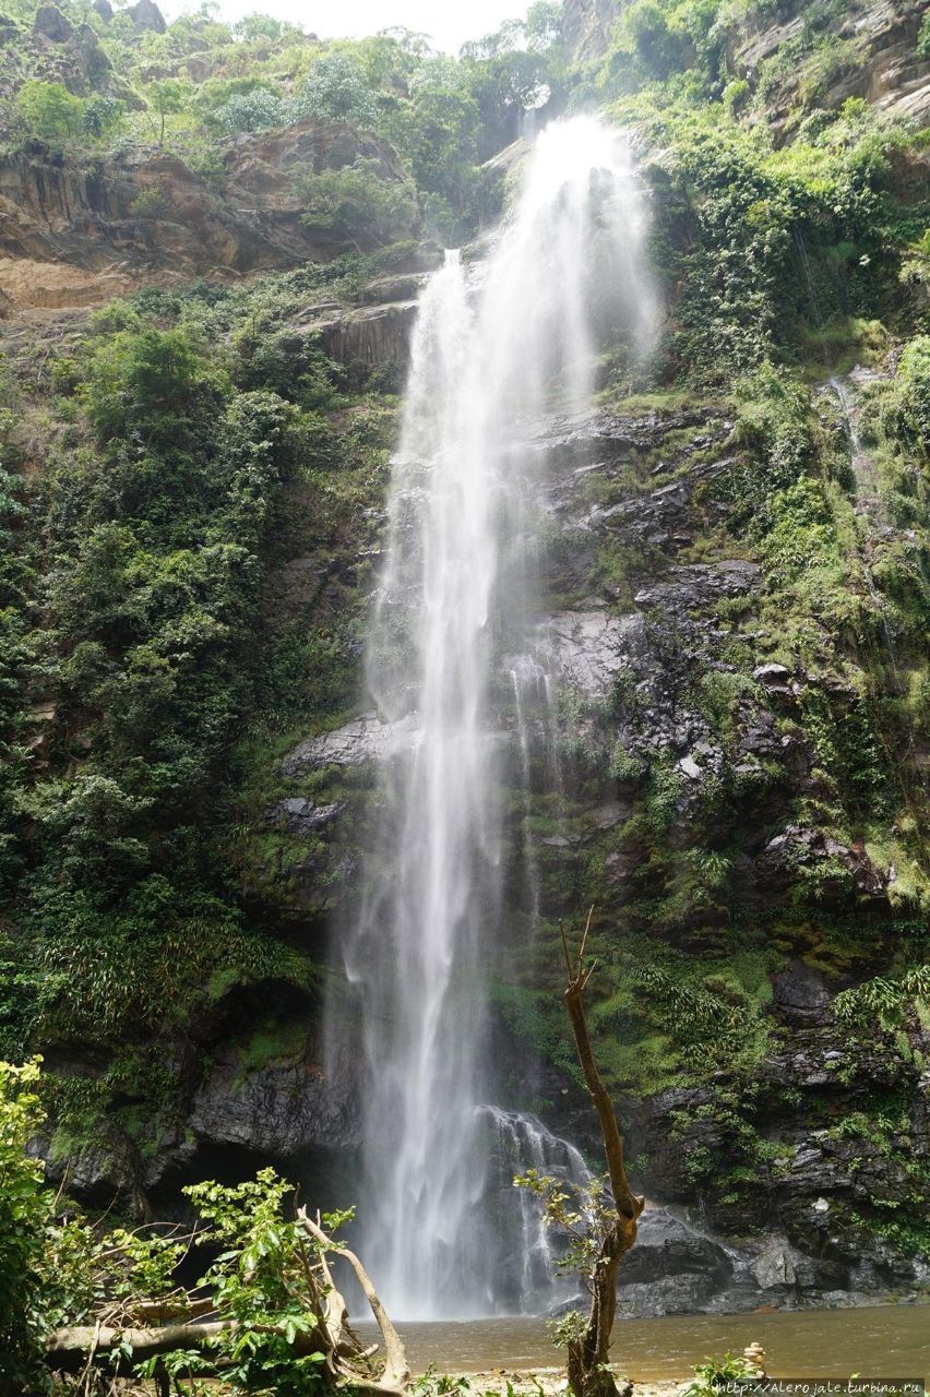
<svg viewBox="0 0 930 1397">
<path fill-rule="evenodd" d="M 106 20 L 94 7 L 61 0 L 68 24 L 82 28 L 54 77 L 45 49 L 29 36 L 35 10 L 28 0 L 4 7 L 11 32 L 0 60 L 14 89 L 3 124 L 14 144 L 38 138 L 71 159 L 113 159 L 156 145 L 222 186 L 221 155 L 230 137 L 310 119 L 345 123 L 390 141 L 427 225 L 443 236 L 476 225 L 478 166 L 519 134 L 526 108 L 559 106 L 566 84 L 560 7 L 550 0 L 533 4 L 525 21 L 468 45 L 458 60 L 404 29 L 323 43 L 271 15 L 228 25 L 202 6 L 163 34 L 137 34 L 126 11 Z M 376 208 L 391 200 L 391 190 L 378 189 L 387 182 L 370 168 L 328 175 L 323 184 L 313 183 L 311 170 L 297 173 L 300 193 L 327 217 L 334 200 L 348 197 L 355 218 L 397 221 L 398 208 Z"/>
</svg>

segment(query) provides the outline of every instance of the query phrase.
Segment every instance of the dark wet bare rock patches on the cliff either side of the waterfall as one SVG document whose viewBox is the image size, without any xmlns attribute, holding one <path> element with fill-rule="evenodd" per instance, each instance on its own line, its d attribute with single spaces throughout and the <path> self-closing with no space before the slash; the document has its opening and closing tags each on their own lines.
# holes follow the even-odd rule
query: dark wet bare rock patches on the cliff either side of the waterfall
<svg viewBox="0 0 930 1397">
<path fill-rule="evenodd" d="M 384 293 L 402 289 L 390 284 Z M 341 314 L 313 307 L 316 319 L 330 313 Z M 564 736 L 584 747 L 586 763 L 581 777 L 566 768 L 573 821 L 540 828 L 538 856 L 559 870 L 560 887 L 574 888 L 584 859 L 598 851 L 599 893 L 621 918 L 644 865 L 635 835 L 626 833 L 642 810 L 635 770 L 669 768 L 676 791 L 669 838 L 686 848 L 688 841 L 716 847 L 701 802 L 735 774 L 747 795 L 740 796 L 733 905 L 758 912 L 762 925 L 765 914 L 790 898 L 790 880 L 802 868 L 804 876 L 815 875 L 828 909 L 856 908 L 880 925 L 887 887 L 866 851 L 795 813 L 815 789 L 814 752 L 799 722 L 803 704 L 814 694 L 845 711 L 852 698 L 838 676 L 806 673 L 755 652 L 751 619 L 732 623 L 733 616 L 751 617 L 762 595 L 765 577 L 754 560 L 726 556 L 723 548 L 716 556 L 693 550 L 708 521 L 722 517 L 715 490 L 732 465 L 728 436 L 729 423 L 709 412 L 592 412 L 545 423 L 533 439 L 549 481 L 542 509 L 570 546 L 545 560 L 557 601 L 529 636 L 532 657 L 517 658 L 535 658 L 556 676 L 571 715 L 550 712 L 546 731 L 531 715 L 529 754 L 549 774 L 552 739 Z M 605 578 L 596 560 L 616 548 L 628 560 L 626 576 Z M 504 678 L 510 665 L 508 657 Z M 698 680 L 707 675 L 732 694 L 729 735 L 700 703 Z M 508 683 L 499 686 L 494 703 L 501 746 L 515 752 Z M 415 714 L 388 725 L 362 712 L 332 732 L 307 735 L 279 760 L 278 799 L 257 813 L 264 830 L 281 835 L 264 893 L 276 915 L 302 926 L 314 918 L 318 925 L 328 912 L 338 926 L 352 907 L 373 764 L 415 740 Z M 631 777 L 609 775 L 617 746 L 635 768 Z M 708 926 L 725 936 L 729 915 L 728 907 L 698 905 L 680 914 L 672 935 L 649 932 L 690 949 L 701 946 Z M 621 1315 L 832 1303 L 915 1284 L 913 1263 L 849 1224 L 850 1213 L 871 1199 L 894 1204 L 908 1197 L 913 1178 L 890 1158 L 887 1141 L 848 1137 L 842 1129 L 869 1101 L 901 1094 L 916 1102 L 913 1073 L 888 1045 L 866 1051 L 852 1044 L 832 1018 L 843 981 L 807 964 L 802 951 L 790 954 L 772 958 L 771 1025 L 764 1028 L 768 1034 L 771 1027 L 771 1037 L 751 1083 L 755 1154 L 747 1154 L 733 1115 L 718 1109 L 729 1080 L 623 1102 L 630 1158 L 642 1169 L 638 1186 L 666 1208 L 642 1220 L 621 1275 Z M 524 1056 L 494 1053 L 507 1063 L 501 1071 L 515 1095 L 539 1080 L 538 1046 L 532 1062 L 529 1053 L 528 1046 Z M 219 1059 L 191 1108 L 195 1148 L 229 1141 L 229 1148 L 258 1151 L 267 1140 L 293 1154 L 316 1148 L 331 1132 L 350 1150 L 353 1098 L 339 1094 L 335 1077 L 327 1083 L 316 1076 L 309 1062 L 270 1065 L 240 1080 L 236 1065 Z M 540 1111 L 546 1123 L 591 1143 L 589 1112 L 573 1084 L 552 1065 L 542 1073 L 539 1095 L 552 1109 Z M 910 1125 L 926 1148 L 916 1105 Z M 701 1173 L 705 1160 L 716 1173 Z M 728 1199 L 730 1173 L 740 1182 Z M 507 1264 L 512 1270 L 512 1257 Z"/>
</svg>

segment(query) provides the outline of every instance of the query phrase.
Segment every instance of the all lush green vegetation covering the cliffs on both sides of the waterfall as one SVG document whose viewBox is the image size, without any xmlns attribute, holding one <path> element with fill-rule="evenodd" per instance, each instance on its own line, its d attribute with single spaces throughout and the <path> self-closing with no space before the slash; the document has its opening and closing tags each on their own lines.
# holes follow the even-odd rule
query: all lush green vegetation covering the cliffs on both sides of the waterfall
<svg viewBox="0 0 930 1397">
<path fill-rule="evenodd" d="M 324 43 L 261 14 L 228 27 L 208 8 L 140 35 L 126 13 L 106 21 L 63 0 L 89 28 L 80 73 L 70 50 L 52 60 L 29 38 L 35 8 L 6 7 L 13 151 L 92 169 L 163 149 L 222 197 L 223 154 L 243 136 L 316 120 L 385 142 L 378 159 L 293 170 L 304 219 L 345 249 L 328 265 L 151 286 L 8 339 L 0 1049 L 17 1062 L 46 1049 L 56 1063 L 42 1087 L 54 1165 L 105 1122 L 141 1168 L 184 1129 L 221 1045 L 240 1077 L 300 1055 L 342 855 L 268 812 L 295 795 L 338 805 L 350 859 L 359 781 L 334 768 L 295 782 L 279 760 L 353 711 L 399 384 L 395 363 L 334 362 L 304 313 L 355 307 L 376 277 L 419 265 L 413 235 L 469 237 L 504 197 L 480 165 L 518 134 L 521 113 L 588 106 L 633 131 L 669 306 L 648 365 L 607 349 L 600 402 L 677 425 L 578 489 L 610 504 L 695 467 L 707 475 L 687 536 L 610 538 L 589 574 L 575 573 L 571 599 L 603 590 L 627 613 L 667 564 L 729 559 L 758 563 L 760 583 L 702 615 L 714 636 L 701 659 L 684 622 L 660 608 L 642 617 L 644 645 L 683 673 L 674 703 L 715 753 L 700 787 L 645 740 L 655 711 L 628 675 L 593 712 L 564 703 L 571 780 L 531 812 L 539 841 L 571 835 L 567 848 L 540 842 L 545 909 L 599 904 L 603 996 L 591 1020 L 605 1077 L 634 1099 L 698 1092 L 673 1139 L 686 1143 L 691 1194 L 722 1221 L 729 1208 L 744 1224 L 747 1200 L 761 1207 L 783 1176 L 790 1147 L 769 1139 L 768 1118 L 797 1112 L 836 1139 L 876 1136 L 895 1166 L 906 1160 L 903 1088 L 892 1115 L 863 1097 L 838 1116 L 760 1084 L 786 1052 L 772 977 L 790 961 L 842 989 L 827 1034 L 852 1045 L 850 1091 L 856 1062 L 890 1062 L 910 1083 L 926 1023 L 929 144 L 926 130 L 846 95 L 842 6 L 782 7 L 802 17 L 799 32 L 747 68 L 740 43 L 772 15 L 765 0 L 634 0 L 586 63 L 550 3 L 451 59 L 406 32 Z M 159 198 L 138 194 L 134 217 L 156 218 Z M 856 388 L 866 481 L 827 387 L 856 363 L 876 372 Z M 698 415 L 683 425 L 688 411 Z M 574 563 L 584 546 L 561 536 L 553 553 Z M 767 692 L 760 664 L 783 666 L 788 696 Z M 760 714 L 771 743 L 747 756 Z M 591 810 L 614 796 L 623 817 L 592 828 Z M 753 859 L 785 828 L 795 840 L 778 891 L 760 905 Z M 856 883 L 870 869 L 878 891 Z M 532 950 L 496 967 L 493 999 L 514 1038 L 571 1074 L 560 1009 L 540 988 L 557 957 L 543 921 Z M 39 1129 L 34 1074 L 4 1071 L 0 1169 L 20 1182 L 0 1194 L 0 1345 L 28 1363 L 39 1310 L 42 1323 L 66 1313 L 45 1291 L 35 1298 L 52 1275 L 38 1252 L 59 1229 L 49 1255 L 60 1260 L 78 1232 L 21 1158 Z M 278 1183 L 263 1187 L 278 1207 Z M 200 1194 L 230 1208 L 256 1197 Z M 910 1245 L 923 1238 L 912 1203 L 870 1199 L 855 1225 Z M 103 1246 L 75 1227 L 87 1255 Z M 14 1319 L 14 1294 L 29 1298 L 25 1317 Z"/>
</svg>

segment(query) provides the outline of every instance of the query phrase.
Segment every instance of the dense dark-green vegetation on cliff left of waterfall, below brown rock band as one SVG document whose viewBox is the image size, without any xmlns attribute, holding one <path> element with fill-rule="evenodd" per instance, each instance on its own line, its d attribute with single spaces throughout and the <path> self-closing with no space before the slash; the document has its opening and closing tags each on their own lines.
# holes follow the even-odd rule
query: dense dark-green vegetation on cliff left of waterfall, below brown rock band
<svg viewBox="0 0 930 1397">
<path fill-rule="evenodd" d="M 346 258 L 112 302 L 80 358 L 53 359 L 57 430 L 27 400 L 31 351 L 8 367 L 0 1032 L 13 1053 L 116 1051 L 98 1080 L 57 1084 L 63 1141 L 120 1098 L 151 1144 L 133 1102 L 169 1105 L 187 1070 L 159 1041 L 250 985 L 316 995 L 306 949 L 243 912 L 235 831 L 267 803 L 250 768 L 270 745 L 353 690 L 352 587 L 335 619 L 314 623 L 313 597 L 271 623 L 267 608 L 293 513 L 330 564 L 346 542 L 355 559 L 348 521 L 380 489 L 392 400 L 346 397 L 345 370 L 288 327 L 307 291 L 350 295 L 374 271 Z M 46 465 L 27 481 L 36 434 Z"/>
</svg>

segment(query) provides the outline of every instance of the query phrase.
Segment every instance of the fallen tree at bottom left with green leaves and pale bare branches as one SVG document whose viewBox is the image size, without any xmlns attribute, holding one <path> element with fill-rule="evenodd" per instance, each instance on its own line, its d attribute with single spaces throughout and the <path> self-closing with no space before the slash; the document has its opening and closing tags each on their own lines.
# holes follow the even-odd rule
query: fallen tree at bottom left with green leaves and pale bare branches
<svg viewBox="0 0 930 1397">
<path fill-rule="evenodd" d="M 25 1153 L 45 1112 L 39 1062 L 0 1062 L 0 1390 L 46 1391 L 49 1373 L 109 1380 L 222 1373 L 223 1390 L 309 1397 L 330 1387 L 404 1397 L 411 1368 L 359 1257 L 334 1239 L 350 1211 L 293 1211 L 286 1179 L 261 1169 L 233 1187 L 191 1185 L 194 1232 L 148 1224 L 101 1232 L 45 1186 Z M 290 1215 L 288 1215 L 290 1214 Z M 189 1289 L 191 1243 L 214 1260 Z M 331 1257 L 355 1273 L 384 1345 L 352 1331 Z M 155 1323 L 152 1323 L 155 1320 Z M 180 1389 L 179 1389 L 180 1390 Z"/>
</svg>

